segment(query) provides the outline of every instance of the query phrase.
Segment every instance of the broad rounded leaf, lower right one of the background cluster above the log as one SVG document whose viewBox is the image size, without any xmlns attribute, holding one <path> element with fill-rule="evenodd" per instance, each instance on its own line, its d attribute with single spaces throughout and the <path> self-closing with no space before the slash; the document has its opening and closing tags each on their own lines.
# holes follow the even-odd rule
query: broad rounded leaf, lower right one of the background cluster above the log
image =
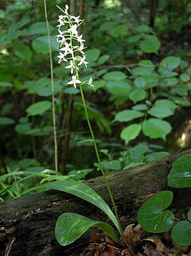
<svg viewBox="0 0 191 256">
<path fill-rule="evenodd" d="M 172 127 L 167 121 L 150 118 L 143 121 L 142 129 L 144 135 L 148 136 L 151 139 L 162 138 L 163 140 L 165 140 L 166 135 L 171 132 Z"/>
</svg>

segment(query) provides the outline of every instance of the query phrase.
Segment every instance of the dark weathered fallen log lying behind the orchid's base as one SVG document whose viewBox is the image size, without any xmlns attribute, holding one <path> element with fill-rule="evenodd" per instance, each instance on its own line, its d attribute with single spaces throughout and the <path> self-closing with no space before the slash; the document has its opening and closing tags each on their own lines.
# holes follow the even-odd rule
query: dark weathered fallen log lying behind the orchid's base
<svg viewBox="0 0 191 256">
<path fill-rule="evenodd" d="M 140 206 L 159 189 L 171 190 L 174 199 L 169 209 L 174 213 L 186 216 L 191 202 L 190 189 L 174 189 L 167 185 L 167 175 L 172 168 L 172 162 L 185 154 L 191 154 L 191 149 L 108 175 L 108 183 L 118 209 L 122 229 L 128 224 L 136 223 L 136 215 Z M 102 177 L 88 180 L 85 183 L 101 195 L 111 207 Z M 184 200 L 182 200 L 183 198 Z M 91 231 L 86 232 L 69 246 L 62 247 L 57 243 L 54 235 L 55 224 L 58 216 L 64 212 L 78 213 L 93 220 L 111 223 L 96 206 L 57 190 L 48 190 L 1 202 L 1 255 L 75 255 L 70 253 L 71 248 L 87 247 L 87 244 L 84 243 L 88 243 Z"/>
</svg>

